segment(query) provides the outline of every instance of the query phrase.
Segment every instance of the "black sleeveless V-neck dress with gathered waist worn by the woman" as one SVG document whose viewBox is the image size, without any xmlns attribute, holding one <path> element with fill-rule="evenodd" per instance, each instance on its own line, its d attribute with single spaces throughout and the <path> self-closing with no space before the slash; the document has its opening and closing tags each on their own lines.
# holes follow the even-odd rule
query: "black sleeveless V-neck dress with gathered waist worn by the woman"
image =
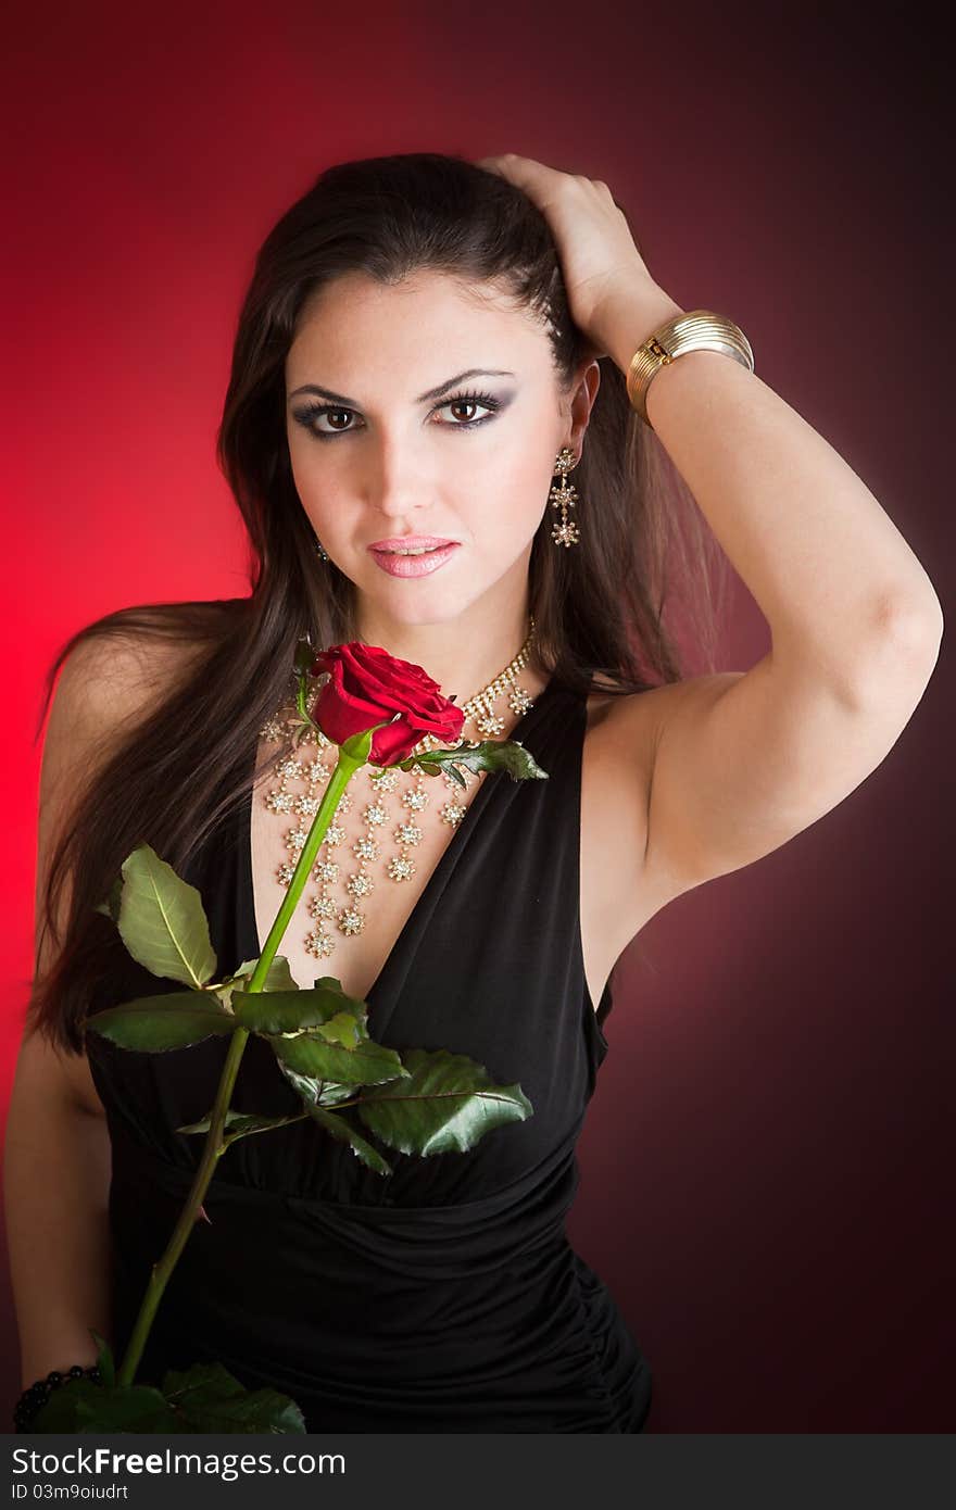
<svg viewBox="0 0 956 1510">
<path fill-rule="evenodd" d="M 595 1016 L 581 953 L 584 723 L 584 698 L 551 680 L 510 734 L 548 779 L 485 778 L 367 997 L 373 1039 L 467 1054 L 497 1084 L 520 1083 L 533 1114 L 465 1154 L 378 1145 L 385 1176 L 308 1119 L 236 1142 L 137 1380 L 219 1361 L 248 1388 L 291 1395 L 308 1431 L 643 1430 L 648 1362 L 565 1232 L 612 1006 L 609 986 Z M 249 814 L 251 799 L 186 871 L 219 975 L 260 953 Z M 334 974 L 334 954 L 317 960 L 316 975 Z M 171 989 L 125 957 L 92 1010 Z M 113 1149 L 121 1357 L 202 1149 L 201 1136 L 175 1128 L 211 1110 L 228 1040 L 159 1054 L 95 1031 L 86 1043 Z M 231 1105 L 302 1110 L 254 1034 Z"/>
</svg>

